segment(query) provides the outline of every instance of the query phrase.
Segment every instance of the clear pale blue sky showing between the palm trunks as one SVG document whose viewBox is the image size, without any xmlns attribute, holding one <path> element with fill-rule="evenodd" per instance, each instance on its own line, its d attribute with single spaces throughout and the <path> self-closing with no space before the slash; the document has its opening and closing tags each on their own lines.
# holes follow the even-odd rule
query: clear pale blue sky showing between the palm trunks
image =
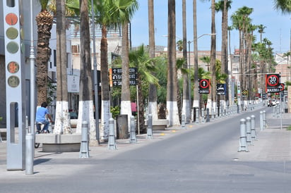
<svg viewBox="0 0 291 193">
<path fill-rule="evenodd" d="M 218 0 L 216 0 L 218 1 Z M 138 0 L 138 11 L 131 19 L 132 46 L 148 45 L 148 1 Z M 232 25 L 230 15 L 243 6 L 253 8 L 249 17 L 253 25 L 266 26 L 263 38 L 272 42 L 275 53 L 290 51 L 291 14 L 283 15 L 274 9 L 273 0 L 232 0 L 232 7 L 228 15 L 228 25 Z M 155 12 L 155 45 L 167 46 L 167 0 L 154 0 Z M 221 18 L 222 13 L 216 13 L 216 49 L 221 50 Z M 193 1 L 186 0 L 187 42 L 194 39 L 193 35 Z M 176 1 L 176 40 L 182 39 L 182 0 Z M 211 33 L 210 1 L 197 0 L 197 36 Z M 260 34 L 255 31 L 256 42 L 259 42 Z M 239 33 L 232 30 L 230 35 L 231 51 L 239 48 Z M 198 50 L 210 50 L 210 35 L 204 35 L 197 40 Z M 188 45 L 188 44 L 187 44 Z M 193 44 L 191 44 L 193 51 Z"/>
</svg>

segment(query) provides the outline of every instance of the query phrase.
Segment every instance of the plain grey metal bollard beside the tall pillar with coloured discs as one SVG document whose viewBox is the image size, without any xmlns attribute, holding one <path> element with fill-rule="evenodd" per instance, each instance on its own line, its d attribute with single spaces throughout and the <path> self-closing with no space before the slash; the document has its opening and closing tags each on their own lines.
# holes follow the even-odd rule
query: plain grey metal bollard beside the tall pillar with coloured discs
<svg viewBox="0 0 291 193">
<path fill-rule="evenodd" d="M 32 175 L 33 174 L 33 137 L 32 133 L 27 133 L 25 135 L 25 174 Z"/>
</svg>

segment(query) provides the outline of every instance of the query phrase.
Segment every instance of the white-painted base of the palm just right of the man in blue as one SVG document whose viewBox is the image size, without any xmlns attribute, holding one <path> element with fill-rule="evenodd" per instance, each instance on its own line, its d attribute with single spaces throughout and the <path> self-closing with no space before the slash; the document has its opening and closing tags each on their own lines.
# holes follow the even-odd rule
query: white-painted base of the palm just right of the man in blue
<svg viewBox="0 0 291 193">
<path fill-rule="evenodd" d="M 54 134 L 71 134 L 71 123 L 68 101 L 57 101 Z"/>
</svg>

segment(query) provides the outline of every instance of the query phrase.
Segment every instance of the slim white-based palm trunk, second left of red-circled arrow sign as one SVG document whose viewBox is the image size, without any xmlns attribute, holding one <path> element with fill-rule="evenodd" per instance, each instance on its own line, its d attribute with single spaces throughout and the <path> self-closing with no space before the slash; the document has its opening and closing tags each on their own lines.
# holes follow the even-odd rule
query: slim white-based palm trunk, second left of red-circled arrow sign
<svg viewBox="0 0 291 193">
<path fill-rule="evenodd" d="M 183 23 L 183 58 L 187 61 L 187 30 L 186 30 L 186 0 L 182 1 L 182 23 Z M 190 62 L 190 61 L 189 61 Z M 189 66 L 189 64 L 188 64 Z M 184 63 L 184 68 L 187 68 L 187 62 Z M 191 121 L 191 91 L 189 90 L 189 77 L 188 73 L 183 75 L 183 108 L 182 114 L 185 115 L 186 123 Z"/>
</svg>

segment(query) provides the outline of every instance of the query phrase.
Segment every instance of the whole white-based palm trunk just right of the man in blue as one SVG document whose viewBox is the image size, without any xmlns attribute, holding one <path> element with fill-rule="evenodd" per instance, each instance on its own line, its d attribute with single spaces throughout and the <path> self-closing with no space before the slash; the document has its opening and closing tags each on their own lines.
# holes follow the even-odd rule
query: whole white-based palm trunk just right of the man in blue
<svg viewBox="0 0 291 193">
<path fill-rule="evenodd" d="M 57 103 L 54 133 L 71 133 L 66 79 L 66 9 L 65 0 L 57 1 Z"/>
</svg>

